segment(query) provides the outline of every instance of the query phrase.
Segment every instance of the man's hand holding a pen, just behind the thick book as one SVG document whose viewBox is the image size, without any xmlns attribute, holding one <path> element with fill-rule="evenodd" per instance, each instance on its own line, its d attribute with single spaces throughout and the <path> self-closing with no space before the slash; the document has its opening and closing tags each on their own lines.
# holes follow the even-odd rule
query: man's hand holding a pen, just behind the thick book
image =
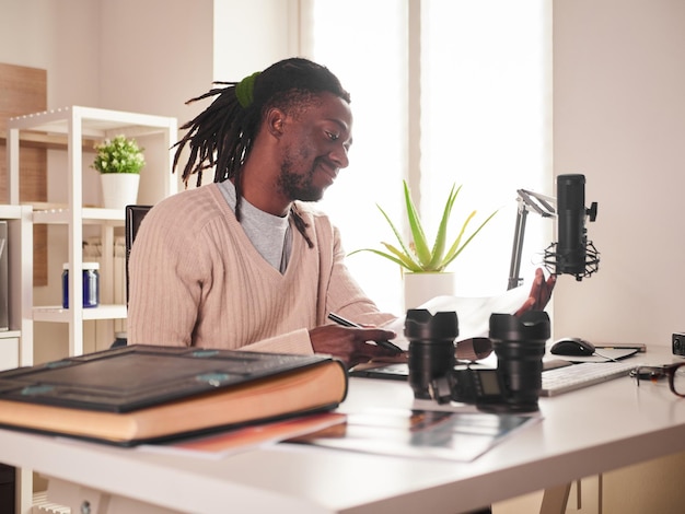
<svg viewBox="0 0 685 514">
<path fill-rule="evenodd" d="M 310 330 L 315 353 L 328 353 L 340 359 L 348 367 L 378 357 L 392 357 L 396 352 L 368 341 L 393 339 L 396 334 L 382 328 L 350 328 L 323 325 Z"/>
</svg>

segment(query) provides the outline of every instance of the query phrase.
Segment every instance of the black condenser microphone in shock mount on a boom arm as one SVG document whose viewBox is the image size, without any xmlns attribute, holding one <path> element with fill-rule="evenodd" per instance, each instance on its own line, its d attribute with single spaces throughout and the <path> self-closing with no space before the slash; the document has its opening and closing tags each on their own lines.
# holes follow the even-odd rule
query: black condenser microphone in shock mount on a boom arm
<svg viewBox="0 0 685 514">
<path fill-rule="evenodd" d="M 585 208 L 585 176 L 579 174 L 557 177 L 557 237 L 558 243 L 545 252 L 545 262 L 555 274 L 573 274 L 582 280 L 599 269 L 600 257 L 588 241 L 585 218 L 594 221 L 597 203 Z M 556 247 L 555 247 L 556 246 Z"/>
</svg>

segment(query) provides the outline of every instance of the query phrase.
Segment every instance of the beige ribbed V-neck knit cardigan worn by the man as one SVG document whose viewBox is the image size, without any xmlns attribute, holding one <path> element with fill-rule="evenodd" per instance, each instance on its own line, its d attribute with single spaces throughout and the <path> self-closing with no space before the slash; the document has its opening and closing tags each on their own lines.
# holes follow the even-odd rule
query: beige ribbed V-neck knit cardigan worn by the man
<svg viewBox="0 0 685 514">
<path fill-rule="evenodd" d="M 329 323 L 329 312 L 362 324 L 391 320 L 349 274 L 330 220 L 311 206 L 297 208 L 314 248 L 293 226 L 281 274 L 254 248 L 216 184 L 156 205 L 129 260 L 129 344 L 312 353 L 309 329 Z"/>
</svg>

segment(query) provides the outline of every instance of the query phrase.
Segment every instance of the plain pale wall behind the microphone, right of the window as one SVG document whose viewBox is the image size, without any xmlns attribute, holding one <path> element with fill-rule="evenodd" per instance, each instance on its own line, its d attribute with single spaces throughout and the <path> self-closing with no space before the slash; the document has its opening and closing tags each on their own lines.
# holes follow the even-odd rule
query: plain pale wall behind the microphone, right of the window
<svg viewBox="0 0 685 514">
<path fill-rule="evenodd" d="M 564 276 L 555 335 L 670 344 L 685 329 L 685 2 L 555 0 L 554 168 L 599 202 L 600 271 Z"/>
</svg>

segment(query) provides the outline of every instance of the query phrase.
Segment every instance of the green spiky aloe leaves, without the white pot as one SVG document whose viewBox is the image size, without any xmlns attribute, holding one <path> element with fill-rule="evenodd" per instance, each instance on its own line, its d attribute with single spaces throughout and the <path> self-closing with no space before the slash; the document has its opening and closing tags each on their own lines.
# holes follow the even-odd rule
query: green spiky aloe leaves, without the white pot
<svg viewBox="0 0 685 514">
<path fill-rule="evenodd" d="M 480 232 L 480 230 L 492 219 L 492 217 L 497 214 L 497 211 L 492 212 L 465 241 L 462 241 L 465 237 L 468 224 L 476 215 L 476 211 L 474 210 L 466 218 L 466 221 L 464 221 L 464 223 L 462 224 L 462 229 L 460 230 L 458 235 L 448 248 L 448 224 L 452 215 L 454 201 L 456 200 L 458 192 L 462 190 L 462 186 L 457 187 L 456 184 L 454 184 L 452 186 L 452 189 L 450 190 L 450 195 L 448 196 L 448 200 L 442 212 L 442 219 L 440 221 L 440 226 L 438 229 L 438 234 L 436 235 L 436 241 L 433 242 L 433 245 L 431 247 L 429 246 L 429 243 L 427 241 L 423 225 L 416 210 L 416 206 L 414 205 L 414 200 L 411 200 L 409 186 L 407 185 L 406 180 L 403 180 L 403 184 L 407 218 L 409 221 L 409 229 L 411 231 L 413 241 L 409 243 L 406 243 L 404 241 L 400 232 L 392 222 L 387 213 L 380 205 L 376 203 L 376 207 L 393 230 L 395 237 L 397 237 L 399 248 L 390 243 L 381 242 L 381 244 L 386 248 L 387 252 L 374 248 L 360 248 L 351 252 L 350 255 L 357 254 L 359 252 L 372 252 L 399 265 L 403 270 L 415 273 L 444 271 L 450 262 L 452 262 L 464 250 L 464 248 L 468 245 L 468 243 L 473 241 L 476 234 L 478 234 L 478 232 Z"/>
</svg>

